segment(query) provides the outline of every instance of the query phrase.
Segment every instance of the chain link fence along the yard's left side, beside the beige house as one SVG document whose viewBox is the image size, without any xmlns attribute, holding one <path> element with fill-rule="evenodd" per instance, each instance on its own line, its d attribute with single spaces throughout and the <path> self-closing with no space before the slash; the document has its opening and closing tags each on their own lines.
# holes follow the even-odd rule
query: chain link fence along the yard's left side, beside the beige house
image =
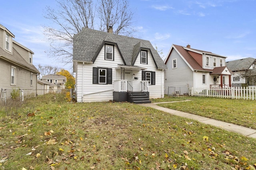
<svg viewBox="0 0 256 170">
<path fill-rule="evenodd" d="M 34 90 L 34 89 L 4 89 L 0 88 L 0 104 L 8 104 L 13 100 L 24 102 L 27 100 L 42 99 L 48 101 L 75 102 L 73 89 L 63 90 Z"/>
</svg>

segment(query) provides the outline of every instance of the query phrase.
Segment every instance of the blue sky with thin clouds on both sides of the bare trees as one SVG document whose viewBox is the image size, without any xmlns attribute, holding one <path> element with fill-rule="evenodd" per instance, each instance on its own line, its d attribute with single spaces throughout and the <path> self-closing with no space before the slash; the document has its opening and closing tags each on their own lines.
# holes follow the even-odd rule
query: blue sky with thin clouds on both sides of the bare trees
<svg viewBox="0 0 256 170">
<path fill-rule="evenodd" d="M 0 24 L 15 35 L 15 41 L 34 52 L 34 65 L 68 69 L 48 57 L 49 42 L 43 15 L 54 0 L 1 2 Z M 135 36 L 149 40 L 165 58 L 172 44 L 210 51 L 226 61 L 256 58 L 256 0 L 130 0 Z M 71 70 L 70 70 L 71 71 Z"/>
</svg>

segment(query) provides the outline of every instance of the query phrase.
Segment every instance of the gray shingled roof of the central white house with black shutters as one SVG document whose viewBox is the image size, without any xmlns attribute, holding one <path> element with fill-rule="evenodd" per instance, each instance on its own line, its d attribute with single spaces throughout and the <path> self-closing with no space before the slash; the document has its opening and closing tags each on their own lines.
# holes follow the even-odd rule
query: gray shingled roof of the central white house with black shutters
<svg viewBox="0 0 256 170">
<path fill-rule="evenodd" d="M 140 49 L 148 49 L 157 68 L 167 69 L 157 51 L 147 40 L 88 28 L 83 28 L 80 33 L 74 35 L 73 40 L 73 61 L 94 62 L 104 43 L 114 43 L 120 50 L 125 65 L 133 65 Z"/>
</svg>

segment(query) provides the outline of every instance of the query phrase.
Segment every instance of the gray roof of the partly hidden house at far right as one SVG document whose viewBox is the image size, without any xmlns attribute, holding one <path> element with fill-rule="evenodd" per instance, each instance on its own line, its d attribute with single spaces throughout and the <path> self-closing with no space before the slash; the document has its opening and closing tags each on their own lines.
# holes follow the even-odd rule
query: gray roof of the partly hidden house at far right
<svg viewBox="0 0 256 170">
<path fill-rule="evenodd" d="M 232 71 L 248 70 L 254 63 L 254 58 L 245 58 L 226 62 L 226 66 Z"/>
</svg>

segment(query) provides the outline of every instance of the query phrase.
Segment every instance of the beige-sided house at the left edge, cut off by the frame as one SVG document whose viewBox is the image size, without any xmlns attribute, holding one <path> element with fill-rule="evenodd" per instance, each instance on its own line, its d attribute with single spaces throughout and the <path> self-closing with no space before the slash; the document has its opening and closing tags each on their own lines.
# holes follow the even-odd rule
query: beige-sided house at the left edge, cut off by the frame
<svg viewBox="0 0 256 170">
<path fill-rule="evenodd" d="M 0 24 L 0 90 L 36 90 L 40 72 L 32 63 L 34 53 L 13 39 L 14 35 Z"/>
</svg>

